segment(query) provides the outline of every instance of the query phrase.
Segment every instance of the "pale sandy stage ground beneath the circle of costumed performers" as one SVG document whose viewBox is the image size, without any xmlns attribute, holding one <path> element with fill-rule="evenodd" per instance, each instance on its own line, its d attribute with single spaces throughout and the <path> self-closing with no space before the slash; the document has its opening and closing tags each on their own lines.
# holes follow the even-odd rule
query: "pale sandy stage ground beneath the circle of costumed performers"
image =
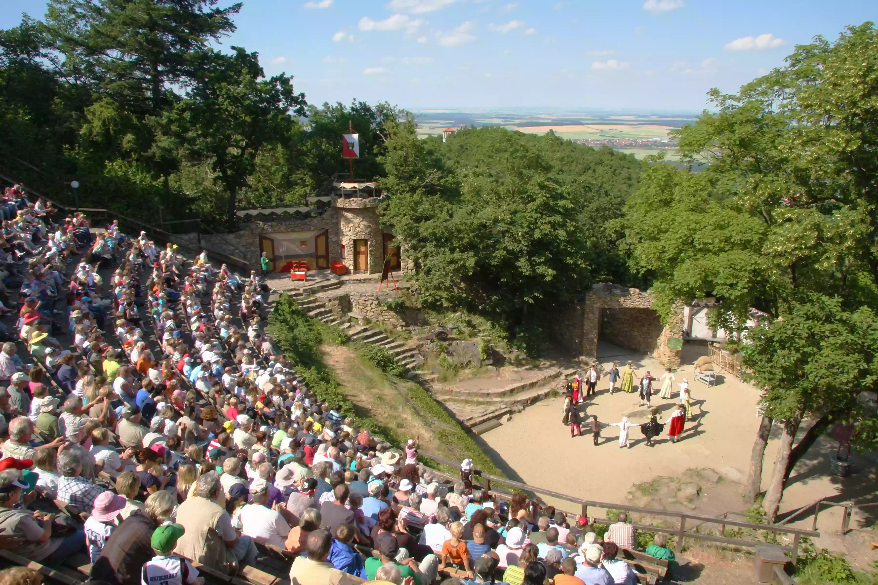
<svg viewBox="0 0 878 585">
<path fill-rule="evenodd" d="M 632 447 L 626 449 L 619 447 L 618 428 L 613 426 L 601 432 L 599 446 L 592 444 L 590 436 L 572 439 L 569 427 L 561 424 L 562 397 L 530 406 L 516 414 L 510 422 L 504 420 L 502 426 L 486 432 L 480 439 L 484 441 L 487 453 L 504 464 L 504 470 L 510 478 L 599 502 L 622 503 L 634 483 L 648 482 L 659 475 L 678 476 L 692 467 L 712 467 L 732 482 L 744 482 L 759 425 L 756 412 L 759 392 L 732 375 L 721 374 L 713 388 L 708 388 L 702 382 L 694 382 L 692 364 L 706 351 L 706 346 L 687 343 L 683 351 L 683 366 L 674 374 L 676 382 L 687 378 L 693 398 L 693 420 L 687 422 L 682 440 L 677 444 L 672 444 L 665 432 L 656 446 L 647 446 L 637 427 L 631 429 Z M 664 372 L 659 362 L 651 357 L 603 342 L 599 346 L 599 359 L 605 369 L 613 361 L 620 367 L 631 361 L 637 375 L 643 375 L 647 370 L 652 375 Z M 656 383 L 656 386 L 658 395 L 660 384 Z M 617 423 L 623 416 L 635 423 L 647 420 L 649 410 L 638 406 L 636 394 L 617 390 L 610 396 L 608 388 L 609 382 L 605 377 L 598 383 L 597 395 L 584 409 L 580 409 L 587 416 L 597 415 L 602 423 Z M 652 406 L 659 408 L 662 422 L 667 420 L 678 396 L 679 388 L 676 386 L 672 400 L 653 396 Z M 807 427 L 804 424 L 800 432 L 805 432 Z M 775 426 L 766 450 L 763 489 L 770 478 L 779 435 L 780 428 Z M 855 473 L 841 479 L 829 473 L 829 453 L 834 453 L 836 447 L 831 438 L 824 437 L 802 458 L 790 477 L 781 503 L 781 514 L 822 497 L 834 502 L 874 501 L 878 455 L 858 455 Z M 722 502 L 710 502 L 710 494 L 702 501 L 710 502 L 711 512 L 745 510 L 746 505 L 741 498 L 729 494 L 721 495 Z M 567 503 L 560 507 L 567 509 L 571 506 Z M 876 508 L 854 513 L 851 527 L 867 528 L 875 524 L 878 521 Z M 599 510 L 595 512 L 600 514 Z M 812 518 L 806 515 L 792 524 L 810 529 Z M 838 534 L 840 523 L 840 508 L 822 511 L 817 528 L 824 536 L 817 544 L 846 552 L 844 539 Z"/>
</svg>

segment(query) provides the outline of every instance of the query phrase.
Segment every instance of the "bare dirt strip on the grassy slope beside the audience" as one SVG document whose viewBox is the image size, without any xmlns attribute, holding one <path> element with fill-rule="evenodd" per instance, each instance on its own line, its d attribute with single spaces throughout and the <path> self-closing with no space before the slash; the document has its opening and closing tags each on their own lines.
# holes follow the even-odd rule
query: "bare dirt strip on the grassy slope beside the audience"
<svg viewBox="0 0 878 585">
<path fill-rule="evenodd" d="M 358 415 L 375 417 L 403 440 L 420 435 L 421 448 L 428 453 L 456 457 L 435 440 L 428 421 L 417 416 L 378 368 L 345 346 L 322 346 L 321 350 L 327 366 L 342 384 L 342 393 L 356 405 Z"/>
</svg>

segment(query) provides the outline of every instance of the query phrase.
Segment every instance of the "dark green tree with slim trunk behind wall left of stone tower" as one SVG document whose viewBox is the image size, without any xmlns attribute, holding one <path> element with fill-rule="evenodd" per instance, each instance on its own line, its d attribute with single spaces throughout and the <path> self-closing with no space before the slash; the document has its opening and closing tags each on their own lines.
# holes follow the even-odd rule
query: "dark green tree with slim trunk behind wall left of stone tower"
<svg viewBox="0 0 878 585">
<path fill-rule="evenodd" d="M 198 80 L 164 121 L 184 155 L 212 161 L 216 180 L 226 191 L 226 222 L 236 225 L 238 192 L 248 185 L 264 146 L 291 132 L 290 112 L 303 114 L 305 96 L 292 89 L 291 77 L 265 79 L 255 53 L 232 47 L 234 54 L 212 52 Z"/>
</svg>

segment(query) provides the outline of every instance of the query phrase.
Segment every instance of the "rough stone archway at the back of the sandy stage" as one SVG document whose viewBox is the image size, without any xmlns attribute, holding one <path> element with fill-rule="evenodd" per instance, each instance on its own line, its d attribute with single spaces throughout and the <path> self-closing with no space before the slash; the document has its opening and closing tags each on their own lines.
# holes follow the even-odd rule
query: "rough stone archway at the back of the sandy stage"
<svg viewBox="0 0 878 585">
<path fill-rule="evenodd" d="M 603 329 L 605 337 L 616 345 L 650 353 L 665 367 L 679 367 L 680 349 L 673 349 L 668 342 L 679 339 L 671 344 L 679 343 L 682 347 L 683 311 L 675 310 L 671 322 L 664 325 L 652 309 L 653 303 L 655 299 L 639 289 L 608 282 L 595 284 L 580 304 L 582 354 L 597 357 L 598 337 Z"/>
</svg>

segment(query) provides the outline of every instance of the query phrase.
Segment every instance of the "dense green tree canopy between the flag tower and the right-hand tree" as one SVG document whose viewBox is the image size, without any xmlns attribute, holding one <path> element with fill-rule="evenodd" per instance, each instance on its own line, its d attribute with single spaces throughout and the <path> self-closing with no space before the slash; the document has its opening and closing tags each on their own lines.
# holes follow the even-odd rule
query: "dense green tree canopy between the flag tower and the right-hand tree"
<svg viewBox="0 0 878 585">
<path fill-rule="evenodd" d="M 426 303 L 502 319 L 515 338 L 591 282 L 624 278 L 607 222 L 637 183 L 629 155 L 496 127 L 420 141 L 409 120 L 382 162 L 382 216 Z"/>
</svg>

